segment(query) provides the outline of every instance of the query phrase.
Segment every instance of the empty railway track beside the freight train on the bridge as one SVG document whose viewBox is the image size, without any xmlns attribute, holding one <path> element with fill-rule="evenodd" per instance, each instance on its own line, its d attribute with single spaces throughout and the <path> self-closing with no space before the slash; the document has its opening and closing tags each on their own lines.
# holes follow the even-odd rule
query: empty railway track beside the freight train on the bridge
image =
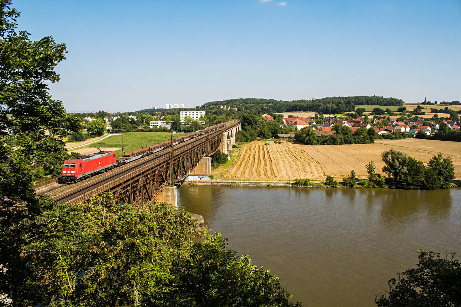
<svg viewBox="0 0 461 307">
<path fill-rule="evenodd" d="M 195 138 L 188 139 L 186 141 L 183 141 L 182 143 L 179 143 L 175 145 L 173 143 L 173 153 L 175 152 L 181 152 L 183 150 L 187 150 L 188 146 L 193 145 L 195 142 L 198 142 L 199 140 L 203 140 L 207 137 L 213 137 L 218 134 L 221 134 L 223 131 L 227 130 L 229 128 L 229 125 L 219 127 L 215 129 L 214 131 L 207 133 L 201 134 Z M 155 154 L 152 154 L 150 156 L 143 157 L 137 161 L 133 161 L 131 163 L 128 163 L 120 168 L 116 168 L 114 170 L 111 170 L 107 173 L 97 175 L 95 179 L 91 180 L 85 180 L 83 183 L 77 184 L 77 186 L 67 190 L 63 191 L 62 193 L 57 194 L 57 192 L 62 191 L 65 189 L 61 187 L 57 187 L 55 190 L 48 191 L 46 194 L 49 194 L 54 201 L 58 203 L 66 203 L 72 200 L 77 200 L 78 195 L 91 195 L 91 194 L 96 194 L 100 191 L 98 187 L 105 186 L 105 185 L 110 185 L 112 183 L 116 184 L 120 180 L 119 178 L 123 178 L 124 176 L 130 176 L 130 175 L 135 175 L 135 173 L 146 166 L 151 166 L 152 168 L 154 165 L 160 164 L 160 163 L 165 163 L 170 160 L 170 147 L 167 147 L 161 151 L 157 151 Z M 75 196 L 78 194 L 77 196 Z"/>
</svg>

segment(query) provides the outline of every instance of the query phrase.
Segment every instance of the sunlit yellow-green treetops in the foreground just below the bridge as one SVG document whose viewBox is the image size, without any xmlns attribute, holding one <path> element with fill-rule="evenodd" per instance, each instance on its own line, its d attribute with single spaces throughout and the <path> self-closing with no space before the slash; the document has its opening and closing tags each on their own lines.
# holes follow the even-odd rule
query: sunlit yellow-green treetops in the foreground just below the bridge
<svg viewBox="0 0 461 307">
<path fill-rule="evenodd" d="M 55 204 L 30 220 L 16 306 L 301 306 L 269 271 L 204 240 L 191 214 L 168 203 L 146 210 L 112 194 Z"/>
</svg>

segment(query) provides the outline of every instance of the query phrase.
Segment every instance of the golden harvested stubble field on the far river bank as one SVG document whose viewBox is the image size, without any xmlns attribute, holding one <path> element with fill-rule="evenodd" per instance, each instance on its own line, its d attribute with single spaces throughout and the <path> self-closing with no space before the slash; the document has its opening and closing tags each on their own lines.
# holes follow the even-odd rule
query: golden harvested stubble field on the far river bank
<svg viewBox="0 0 461 307">
<path fill-rule="evenodd" d="M 225 178 L 235 180 L 294 180 L 309 178 L 325 180 L 326 175 L 341 180 L 355 170 L 366 178 L 365 165 L 373 161 L 383 174 L 381 153 L 394 148 L 423 162 L 438 152 L 450 156 L 455 165 L 455 176 L 461 180 L 461 143 L 425 139 L 377 140 L 374 144 L 357 145 L 303 145 L 292 142 L 265 145 L 254 141 L 245 145 L 236 163 Z"/>
</svg>

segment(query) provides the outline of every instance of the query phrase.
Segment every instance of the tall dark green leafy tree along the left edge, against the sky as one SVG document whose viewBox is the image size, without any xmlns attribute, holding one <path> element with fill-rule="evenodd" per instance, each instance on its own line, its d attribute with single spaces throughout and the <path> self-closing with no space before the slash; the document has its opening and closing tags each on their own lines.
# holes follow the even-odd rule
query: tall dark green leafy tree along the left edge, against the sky
<svg viewBox="0 0 461 307">
<path fill-rule="evenodd" d="M 19 13 L 0 1 L 0 293 L 1 300 L 27 293 L 28 271 L 22 258 L 28 220 L 52 205 L 36 196 L 34 172 L 60 173 L 69 157 L 62 138 L 81 130 L 81 120 L 53 100 L 48 85 L 65 59 L 65 45 L 51 36 L 33 41 L 16 31 Z M 17 304 L 21 306 L 21 304 Z"/>
</svg>

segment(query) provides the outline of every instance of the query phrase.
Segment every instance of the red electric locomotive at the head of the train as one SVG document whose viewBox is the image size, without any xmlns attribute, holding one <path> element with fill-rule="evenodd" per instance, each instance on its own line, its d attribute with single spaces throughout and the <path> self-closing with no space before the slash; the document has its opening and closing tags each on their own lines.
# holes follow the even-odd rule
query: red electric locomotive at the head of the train
<svg viewBox="0 0 461 307">
<path fill-rule="evenodd" d="M 80 181 L 96 173 L 114 168 L 117 165 L 113 151 L 100 151 L 91 155 L 80 156 L 64 161 L 62 179 L 72 183 Z"/>
</svg>

